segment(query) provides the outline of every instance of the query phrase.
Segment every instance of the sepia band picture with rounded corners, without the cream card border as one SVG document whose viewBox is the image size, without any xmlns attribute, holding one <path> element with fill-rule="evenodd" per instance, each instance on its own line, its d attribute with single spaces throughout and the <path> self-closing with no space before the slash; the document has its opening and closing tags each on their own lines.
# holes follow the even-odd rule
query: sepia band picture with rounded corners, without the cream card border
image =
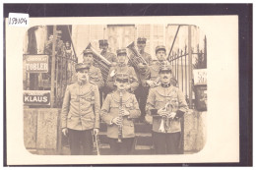
<svg viewBox="0 0 256 170">
<path fill-rule="evenodd" d="M 192 25 L 29 28 L 33 154 L 193 154 L 206 142 L 207 35 Z"/>
</svg>

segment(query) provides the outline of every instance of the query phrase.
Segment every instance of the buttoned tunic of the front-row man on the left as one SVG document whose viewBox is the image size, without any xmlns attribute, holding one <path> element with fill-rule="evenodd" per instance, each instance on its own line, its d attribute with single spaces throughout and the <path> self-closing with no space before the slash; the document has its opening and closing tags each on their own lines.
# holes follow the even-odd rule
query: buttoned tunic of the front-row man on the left
<svg viewBox="0 0 256 170">
<path fill-rule="evenodd" d="M 96 85 L 68 85 L 61 112 L 62 128 L 78 131 L 99 128 L 99 109 Z"/>
</svg>

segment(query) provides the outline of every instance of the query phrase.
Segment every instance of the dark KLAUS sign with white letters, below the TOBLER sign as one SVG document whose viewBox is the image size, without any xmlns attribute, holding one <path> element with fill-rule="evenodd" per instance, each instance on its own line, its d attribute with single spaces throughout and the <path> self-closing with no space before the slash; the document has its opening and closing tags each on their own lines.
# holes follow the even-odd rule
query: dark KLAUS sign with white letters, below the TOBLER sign
<svg viewBox="0 0 256 170">
<path fill-rule="evenodd" d="M 23 102 L 27 105 L 50 105 L 50 90 L 24 90 Z"/>
</svg>

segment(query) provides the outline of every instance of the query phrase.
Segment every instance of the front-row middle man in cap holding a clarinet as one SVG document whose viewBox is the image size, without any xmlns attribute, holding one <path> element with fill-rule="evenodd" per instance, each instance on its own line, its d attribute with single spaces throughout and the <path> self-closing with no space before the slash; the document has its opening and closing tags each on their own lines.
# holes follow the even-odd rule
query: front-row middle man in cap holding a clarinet
<svg viewBox="0 0 256 170">
<path fill-rule="evenodd" d="M 135 131 L 132 119 L 138 118 L 141 112 L 135 95 L 126 90 L 129 81 L 129 75 L 117 74 L 114 83 L 117 89 L 107 94 L 101 107 L 100 116 L 107 124 L 111 154 L 130 154 L 133 147 Z"/>
</svg>

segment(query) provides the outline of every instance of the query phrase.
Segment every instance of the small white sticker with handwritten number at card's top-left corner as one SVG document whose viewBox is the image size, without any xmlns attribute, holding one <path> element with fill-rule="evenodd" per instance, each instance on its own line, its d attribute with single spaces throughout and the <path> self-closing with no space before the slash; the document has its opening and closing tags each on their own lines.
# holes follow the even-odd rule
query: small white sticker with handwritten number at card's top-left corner
<svg viewBox="0 0 256 170">
<path fill-rule="evenodd" d="M 9 13 L 8 25 L 10 27 L 28 27 L 29 20 L 29 14 Z"/>
</svg>

